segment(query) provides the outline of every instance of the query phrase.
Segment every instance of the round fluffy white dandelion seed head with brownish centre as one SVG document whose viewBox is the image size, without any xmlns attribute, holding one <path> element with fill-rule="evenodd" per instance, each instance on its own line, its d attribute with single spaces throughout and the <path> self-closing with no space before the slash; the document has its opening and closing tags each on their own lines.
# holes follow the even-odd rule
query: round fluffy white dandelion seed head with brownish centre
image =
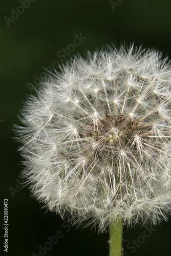
<svg viewBox="0 0 171 256">
<path fill-rule="evenodd" d="M 74 223 L 156 224 L 171 201 L 171 66 L 133 45 L 47 75 L 17 127 L 32 194 Z"/>
</svg>

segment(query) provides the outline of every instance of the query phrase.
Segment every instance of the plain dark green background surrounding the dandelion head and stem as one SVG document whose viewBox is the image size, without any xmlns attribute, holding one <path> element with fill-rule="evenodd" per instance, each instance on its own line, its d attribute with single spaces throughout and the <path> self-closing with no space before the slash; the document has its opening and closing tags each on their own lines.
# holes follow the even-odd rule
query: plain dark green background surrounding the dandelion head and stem
<svg viewBox="0 0 171 256">
<path fill-rule="evenodd" d="M 29 256 L 32 252 L 38 255 L 38 245 L 44 246 L 48 236 L 61 230 L 65 236 L 46 255 L 108 256 L 108 233 L 99 236 L 89 229 L 75 230 L 74 226 L 67 232 L 60 217 L 42 209 L 30 198 L 27 188 L 17 190 L 12 197 L 9 188 L 17 188 L 16 179 L 22 170 L 13 141 L 13 123 L 19 124 L 19 109 L 31 91 L 28 84 L 34 85 L 35 75 L 44 71 L 43 66 L 50 66 L 53 60 L 61 63 L 56 54 L 72 44 L 75 34 L 82 33 L 87 38 L 70 56 L 77 52 L 83 56 L 86 49 L 93 51 L 112 42 L 120 45 L 134 41 L 137 46 L 155 47 L 171 57 L 171 1 L 124 0 L 113 10 L 109 1 L 104 0 L 36 0 L 8 27 L 4 17 L 11 18 L 11 9 L 17 10 L 20 5 L 16 0 L 1 0 L 0 8 L 2 214 L 4 198 L 9 202 L 9 252 L 2 255 Z M 170 255 L 170 227 L 171 221 L 157 226 L 134 253 L 127 244 L 132 240 L 142 241 L 139 236 L 145 229 L 124 228 L 124 255 Z M 3 247 L 3 218 L 1 233 Z"/>
</svg>

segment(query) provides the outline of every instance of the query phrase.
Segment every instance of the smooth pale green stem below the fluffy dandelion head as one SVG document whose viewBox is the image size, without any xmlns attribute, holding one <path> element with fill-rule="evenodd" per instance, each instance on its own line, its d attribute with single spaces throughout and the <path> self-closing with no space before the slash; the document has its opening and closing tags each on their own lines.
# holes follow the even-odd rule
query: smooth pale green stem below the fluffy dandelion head
<svg viewBox="0 0 171 256">
<path fill-rule="evenodd" d="M 110 256 L 121 256 L 122 220 L 110 224 Z"/>
</svg>

